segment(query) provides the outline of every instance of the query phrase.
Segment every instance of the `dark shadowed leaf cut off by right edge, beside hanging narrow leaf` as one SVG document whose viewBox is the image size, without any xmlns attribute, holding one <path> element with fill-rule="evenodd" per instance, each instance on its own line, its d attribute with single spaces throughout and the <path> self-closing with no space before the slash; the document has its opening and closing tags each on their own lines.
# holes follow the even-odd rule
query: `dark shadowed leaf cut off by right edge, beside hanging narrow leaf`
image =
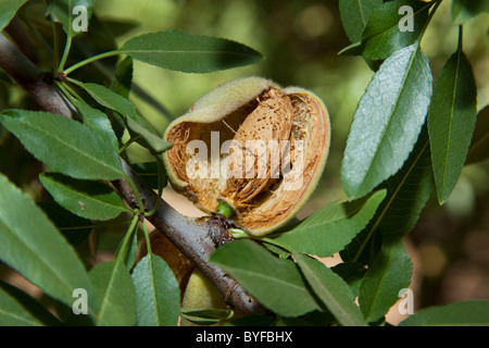
<svg viewBox="0 0 489 348">
<path fill-rule="evenodd" d="M 477 121 L 472 137 L 465 164 L 482 162 L 489 159 L 489 105 L 477 114 Z"/>
</svg>

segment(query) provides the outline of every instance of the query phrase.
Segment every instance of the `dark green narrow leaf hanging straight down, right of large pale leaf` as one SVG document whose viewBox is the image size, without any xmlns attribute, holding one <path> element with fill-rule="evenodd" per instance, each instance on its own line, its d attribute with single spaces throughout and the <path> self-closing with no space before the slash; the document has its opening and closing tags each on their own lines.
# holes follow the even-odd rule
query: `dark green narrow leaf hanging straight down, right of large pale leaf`
<svg viewBox="0 0 489 348">
<path fill-rule="evenodd" d="M 431 160 L 440 204 L 449 198 L 465 162 L 477 113 L 477 88 L 461 49 L 440 72 L 428 114 Z"/>
</svg>

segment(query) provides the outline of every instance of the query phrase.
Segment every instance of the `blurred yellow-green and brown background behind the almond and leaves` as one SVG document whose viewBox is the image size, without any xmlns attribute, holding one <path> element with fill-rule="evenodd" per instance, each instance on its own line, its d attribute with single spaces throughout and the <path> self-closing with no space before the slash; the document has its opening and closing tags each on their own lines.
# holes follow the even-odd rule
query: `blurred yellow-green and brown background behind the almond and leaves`
<svg viewBox="0 0 489 348">
<path fill-rule="evenodd" d="M 457 44 L 457 27 L 450 21 L 450 4 L 443 1 L 422 41 L 435 80 Z M 362 58 L 338 55 L 350 45 L 341 26 L 338 1 L 98 0 L 95 13 L 99 20 L 116 23 L 111 26 L 116 46 L 139 34 L 180 28 L 191 34 L 236 40 L 263 53 L 265 59 L 259 64 L 202 75 L 135 62 L 134 83 L 153 101 L 148 102 L 148 96 L 141 98 L 134 90 L 130 99 L 140 113 L 163 132 L 172 117 L 184 114 L 200 96 L 229 79 L 258 75 L 283 86 L 311 89 L 328 108 L 333 139 L 321 184 L 301 215 L 344 198 L 340 182 L 341 158 L 356 104 L 374 73 Z M 464 26 L 464 50 L 476 76 L 478 109 L 489 102 L 488 18 L 486 13 Z M 106 35 L 110 33 L 95 28 L 92 21 L 88 33 L 75 40 L 90 42 Z M 89 49 L 84 52 L 83 42 L 77 49 L 79 52 L 71 55 L 73 62 L 83 54 L 90 55 Z M 36 53 L 33 55 L 40 64 L 46 61 Z M 104 62 L 108 75 L 111 62 L 113 66 L 114 61 Z M 49 70 L 49 65 L 45 67 Z M 87 76 L 93 75 L 87 75 L 88 72 L 80 70 L 78 77 L 89 82 Z M 3 98 L 0 107 L 21 103 L 23 96 L 17 90 L 7 101 Z M 5 145 L 0 141 L 0 146 L 3 152 Z M 134 151 L 136 157 L 140 154 Z M 12 157 L 12 153 L 3 154 L 0 160 Z M 15 177 L 17 184 L 22 182 L 27 190 L 38 189 L 36 177 L 27 179 L 29 175 L 22 165 L 17 163 L 14 167 L 5 163 L 0 164 L 2 172 Z M 22 175 L 26 175 L 25 181 L 20 179 Z M 438 207 L 436 200 L 428 202 L 406 238 L 415 265 L 416 306 L 489 299 L 488 198 L 489 163 L 486 161 L 464 169 L 457 187 L 443 207 Z"/>
</svg>

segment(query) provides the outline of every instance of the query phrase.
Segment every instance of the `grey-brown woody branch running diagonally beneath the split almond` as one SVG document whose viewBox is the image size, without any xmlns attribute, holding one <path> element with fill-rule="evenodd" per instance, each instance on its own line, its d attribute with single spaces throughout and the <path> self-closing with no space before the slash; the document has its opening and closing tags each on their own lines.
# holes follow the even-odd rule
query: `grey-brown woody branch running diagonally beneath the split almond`
<svg viewBox="0 0 489 348">
<path fill-rule="evenodd" d="M 60 115 L 72 117 L 74 108 L 55 88 L 52 79 L 34 65 L 10 40 L 0 33 L 0 67 L 9 74 L 23 89 L 29 94 L 40 109 Z M 150 211 L 158 199 L 158 195 L 130 170 L 122 160 L 124 172 L 136 185 L 145 209 Z M 112 183 L 124 199 L 133 208 L 137 200 L 130 186 L 124 179 Z M 209 262 L 210 254 L 215 250 L 215 243 L 210 233 L 220 229 L 212 220 L 197 222 L 188 219 L 167 202 L 161 199 L 156 212 L 147 217 L 153 226 L 163 233 L 175 247 L 195 262 L 200 271 L 208 276 L 220 289 L 226 302 L 247 314 L 264 313 L 264 308 L 246 290 L 239 286 L 223 270 Z"/>
</svg>

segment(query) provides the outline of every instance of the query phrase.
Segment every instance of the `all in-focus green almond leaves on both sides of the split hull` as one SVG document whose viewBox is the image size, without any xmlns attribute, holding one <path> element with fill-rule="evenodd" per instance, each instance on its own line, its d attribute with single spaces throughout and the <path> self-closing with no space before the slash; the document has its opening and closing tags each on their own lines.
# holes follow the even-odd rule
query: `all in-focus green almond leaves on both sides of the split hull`
<svg viewBox="0 0 489 348">
<path fill-rule="evenodd" d="M 0 114 L 1 124 L 49 167 L 39 178 L 54 199 L 36 204 L 0 174 L 0 259 L 68 307 L 74 289 L 97 294 L 88 296 L 92 324 L 175 325 L 180 295 L 167 264 L 149 250 L 134 266 L 139 220 L 152 212 L 128 209 L 106 185 L 120 178 L 131 183 L 121 157 L 133 141 L 154 159 L 138 171 L 151 173 L 159 191 L 164 185 L 159 154 L 170 145 L 128 101 L 131 60 L 206 73 L 254 63 L 261 55 L 237 42 L 168 30 L 131 38 L 120 49 L 65 69 L 77 35 L 71 26 L 74 15 L 66 9 L 78 2 L 91 14 L 93 0 L 51 0 L 47 8 L 48 18 L 60 23 L 66 36 L 64 53 L 54 63 L 55 83 L 77 109 L 78 120 L 27 110 Z M 343 26 L 354 42 L 343 53 L 362 55 L 375 70 L 354 114 L 342 162 L 342 185 L 350 200 L 331 202 L 267 238 L 235 234 L 237 240 L 211 257 L 211 262 L 287 323 L 384 323 L 400 290 L 411 282 L 412 264 L 401 238 L 416 223 L 431 191 L 440 203 L 447 200 L 467 158 L 487 159 L 487 153 L 478 151 L 485 149 L 480 141 L 487 139 L 487 130 L 479 127 L 474 133 L 476 88 L 463 53 L 462 29 L 456 52 L 431 87 L 428 59 L 419 42 L 440 2 L 340 0 Z M 24 3 L 11 0 L 0 5 L 0 28 Z M 487 10 L 466 1 L 452 3 L 456 25 Z M 399 29 L 402 5 L 413 9 L 413 32 Z M 53 28 L 59 30 L 60 25 Z M 127 58 L 118 62 L 109 87 L 65 77 L 92 61 L 120 54 Z M 123 142 L 125 130 L 130 138 Z M 140 201 L 139 207 L 143 207 Z M 89 233 L 93 221 L 110 223 L 121 213 L 130 215 L 130 224 L 114 260 L 87 272 L 73 245 L 79 243 L 80 233 Z M 143 235 L 148 240 L 146 229 Z M 310 257 L 338 252 L 342 263 L 331 269 Z M 0 321 L 7 324 L 62 324 L 8 284 L 0 286 Z M 419 311 L 402 324 L 487 324 L 488 312 L 489 302 L 468 301 Z M 220 312 L 214 313 L 218 321 Z M 63 323 L 76 319 L 71 315 Z M 251 316 L 231 323 L 265 322 Z"/>
</svg>

